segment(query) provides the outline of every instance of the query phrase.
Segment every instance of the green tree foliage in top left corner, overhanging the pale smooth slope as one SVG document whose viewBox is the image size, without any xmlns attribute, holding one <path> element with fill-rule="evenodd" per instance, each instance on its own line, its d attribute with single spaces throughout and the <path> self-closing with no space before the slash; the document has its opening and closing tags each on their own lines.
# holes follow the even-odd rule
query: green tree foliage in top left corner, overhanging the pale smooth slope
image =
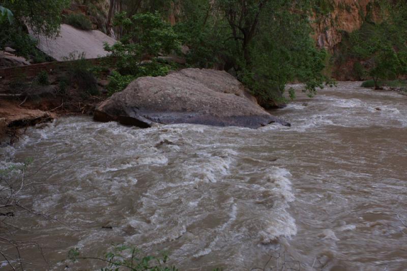
<svg viewBox="0 0 407 271">
<path fill-rule="evenodd" d="M 14 15 L 14 22 L 0 21 L 0 49 L 11 46 L 17 54 L 27 56 L 36 41 L 28 35 L 30 28 L 34 35 L 55 37 L 59 33 L 62 10 L 69 0 L 0 0 L 0 5 Z"/>
</svg>

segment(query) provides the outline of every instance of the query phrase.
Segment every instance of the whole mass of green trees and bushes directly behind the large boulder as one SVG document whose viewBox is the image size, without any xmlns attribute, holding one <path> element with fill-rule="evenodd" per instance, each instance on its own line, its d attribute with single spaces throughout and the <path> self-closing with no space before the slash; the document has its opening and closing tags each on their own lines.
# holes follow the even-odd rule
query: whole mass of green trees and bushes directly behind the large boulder
<svg viewBox="0 0 407 271">
<path fill-rule="evenodd" d="M 313 1 L 177 2 L 173 26 L 163 20 L 168 15 L 163 7 L 171 7 L 172 1 L 164 2 L 128 4 L 126 12 L 115 15 L 113 25 L 120 41 L 106 45 L 118 59 L 109 93 L 121 91 L 129 76 L 165 75 L 174 67 L 160 61 L 160 56 L 180 54 L 180 45 L 188 47 L 187 67 L 228 71 L 264 107 L 286 101 L 283 93 L 289 81 L 305 82 L 310 96 L 324 83 L 332 83 L 323 74 L 326 52 L 315 47 L 310 35 Z M 113 89 L 114 85 L 120 87 Z"/>
</svg>

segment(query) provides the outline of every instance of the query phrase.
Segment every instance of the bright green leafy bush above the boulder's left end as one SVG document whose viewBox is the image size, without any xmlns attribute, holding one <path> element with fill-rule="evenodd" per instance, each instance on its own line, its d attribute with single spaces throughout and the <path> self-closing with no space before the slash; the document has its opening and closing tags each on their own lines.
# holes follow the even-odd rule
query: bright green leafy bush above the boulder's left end
<svg viewBox="0 0 407 271">
<path fill-rule="evenodd" d="M 171 25 L 164 22 L 158 13 L 136 14 L 130 18 L 126 13 L 119 13 L 115 16 L 114 25 L 122 27 L 125 34 L 114 45 L 105 44 L 105 50 L 117 57 L 118 71 L 123 75 L 138 77 L 158 69 L 158 75 L 163 75 L 158 56 L 180 48 Z M 144 58 L 153 59 L 152 64 L 143 63 Z"/>
</svg>

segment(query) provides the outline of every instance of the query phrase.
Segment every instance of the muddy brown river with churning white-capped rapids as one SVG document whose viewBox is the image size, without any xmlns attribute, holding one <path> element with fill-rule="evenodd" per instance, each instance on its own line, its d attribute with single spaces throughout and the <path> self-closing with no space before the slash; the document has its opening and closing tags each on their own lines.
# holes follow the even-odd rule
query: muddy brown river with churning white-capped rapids
<svg viewBox="0 0 407 271">
<path fill-rule="evenodd" d="M 27 248 L 37 265 L 24 268 L 94 270 L 65 262 L 68 251 L 103 257 L 127 244 L 165 250 L 181 270 L 407 269 L 407 97 L 359 85 L 299 92 L 272 112 L 290 128 L 64 117 L 30 130 L 0 148 L 0 165 L 33 158 L 22 202 L 74 226 L 18 212 L 14 238 L 38 242 L 48 261 Z"/>
</svg>

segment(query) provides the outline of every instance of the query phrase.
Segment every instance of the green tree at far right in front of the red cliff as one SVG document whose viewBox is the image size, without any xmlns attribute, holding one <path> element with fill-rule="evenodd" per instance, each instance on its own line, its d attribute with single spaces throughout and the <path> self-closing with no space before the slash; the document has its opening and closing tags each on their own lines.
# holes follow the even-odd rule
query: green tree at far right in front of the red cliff
<svg viewBox="0 0 407 271">
<path fill-rule="evenodd" d="M 374 19 L 375 16 L 381 20 Z M 341 65 L 353 59 L 357 79 L 371 78 L 378 88 L 381 81 L 407 74 L 407 3 L 403 0 L 372 2 L 363 19 L 360 29 L 343 33 L 334 61 Z"/>
</svg>

